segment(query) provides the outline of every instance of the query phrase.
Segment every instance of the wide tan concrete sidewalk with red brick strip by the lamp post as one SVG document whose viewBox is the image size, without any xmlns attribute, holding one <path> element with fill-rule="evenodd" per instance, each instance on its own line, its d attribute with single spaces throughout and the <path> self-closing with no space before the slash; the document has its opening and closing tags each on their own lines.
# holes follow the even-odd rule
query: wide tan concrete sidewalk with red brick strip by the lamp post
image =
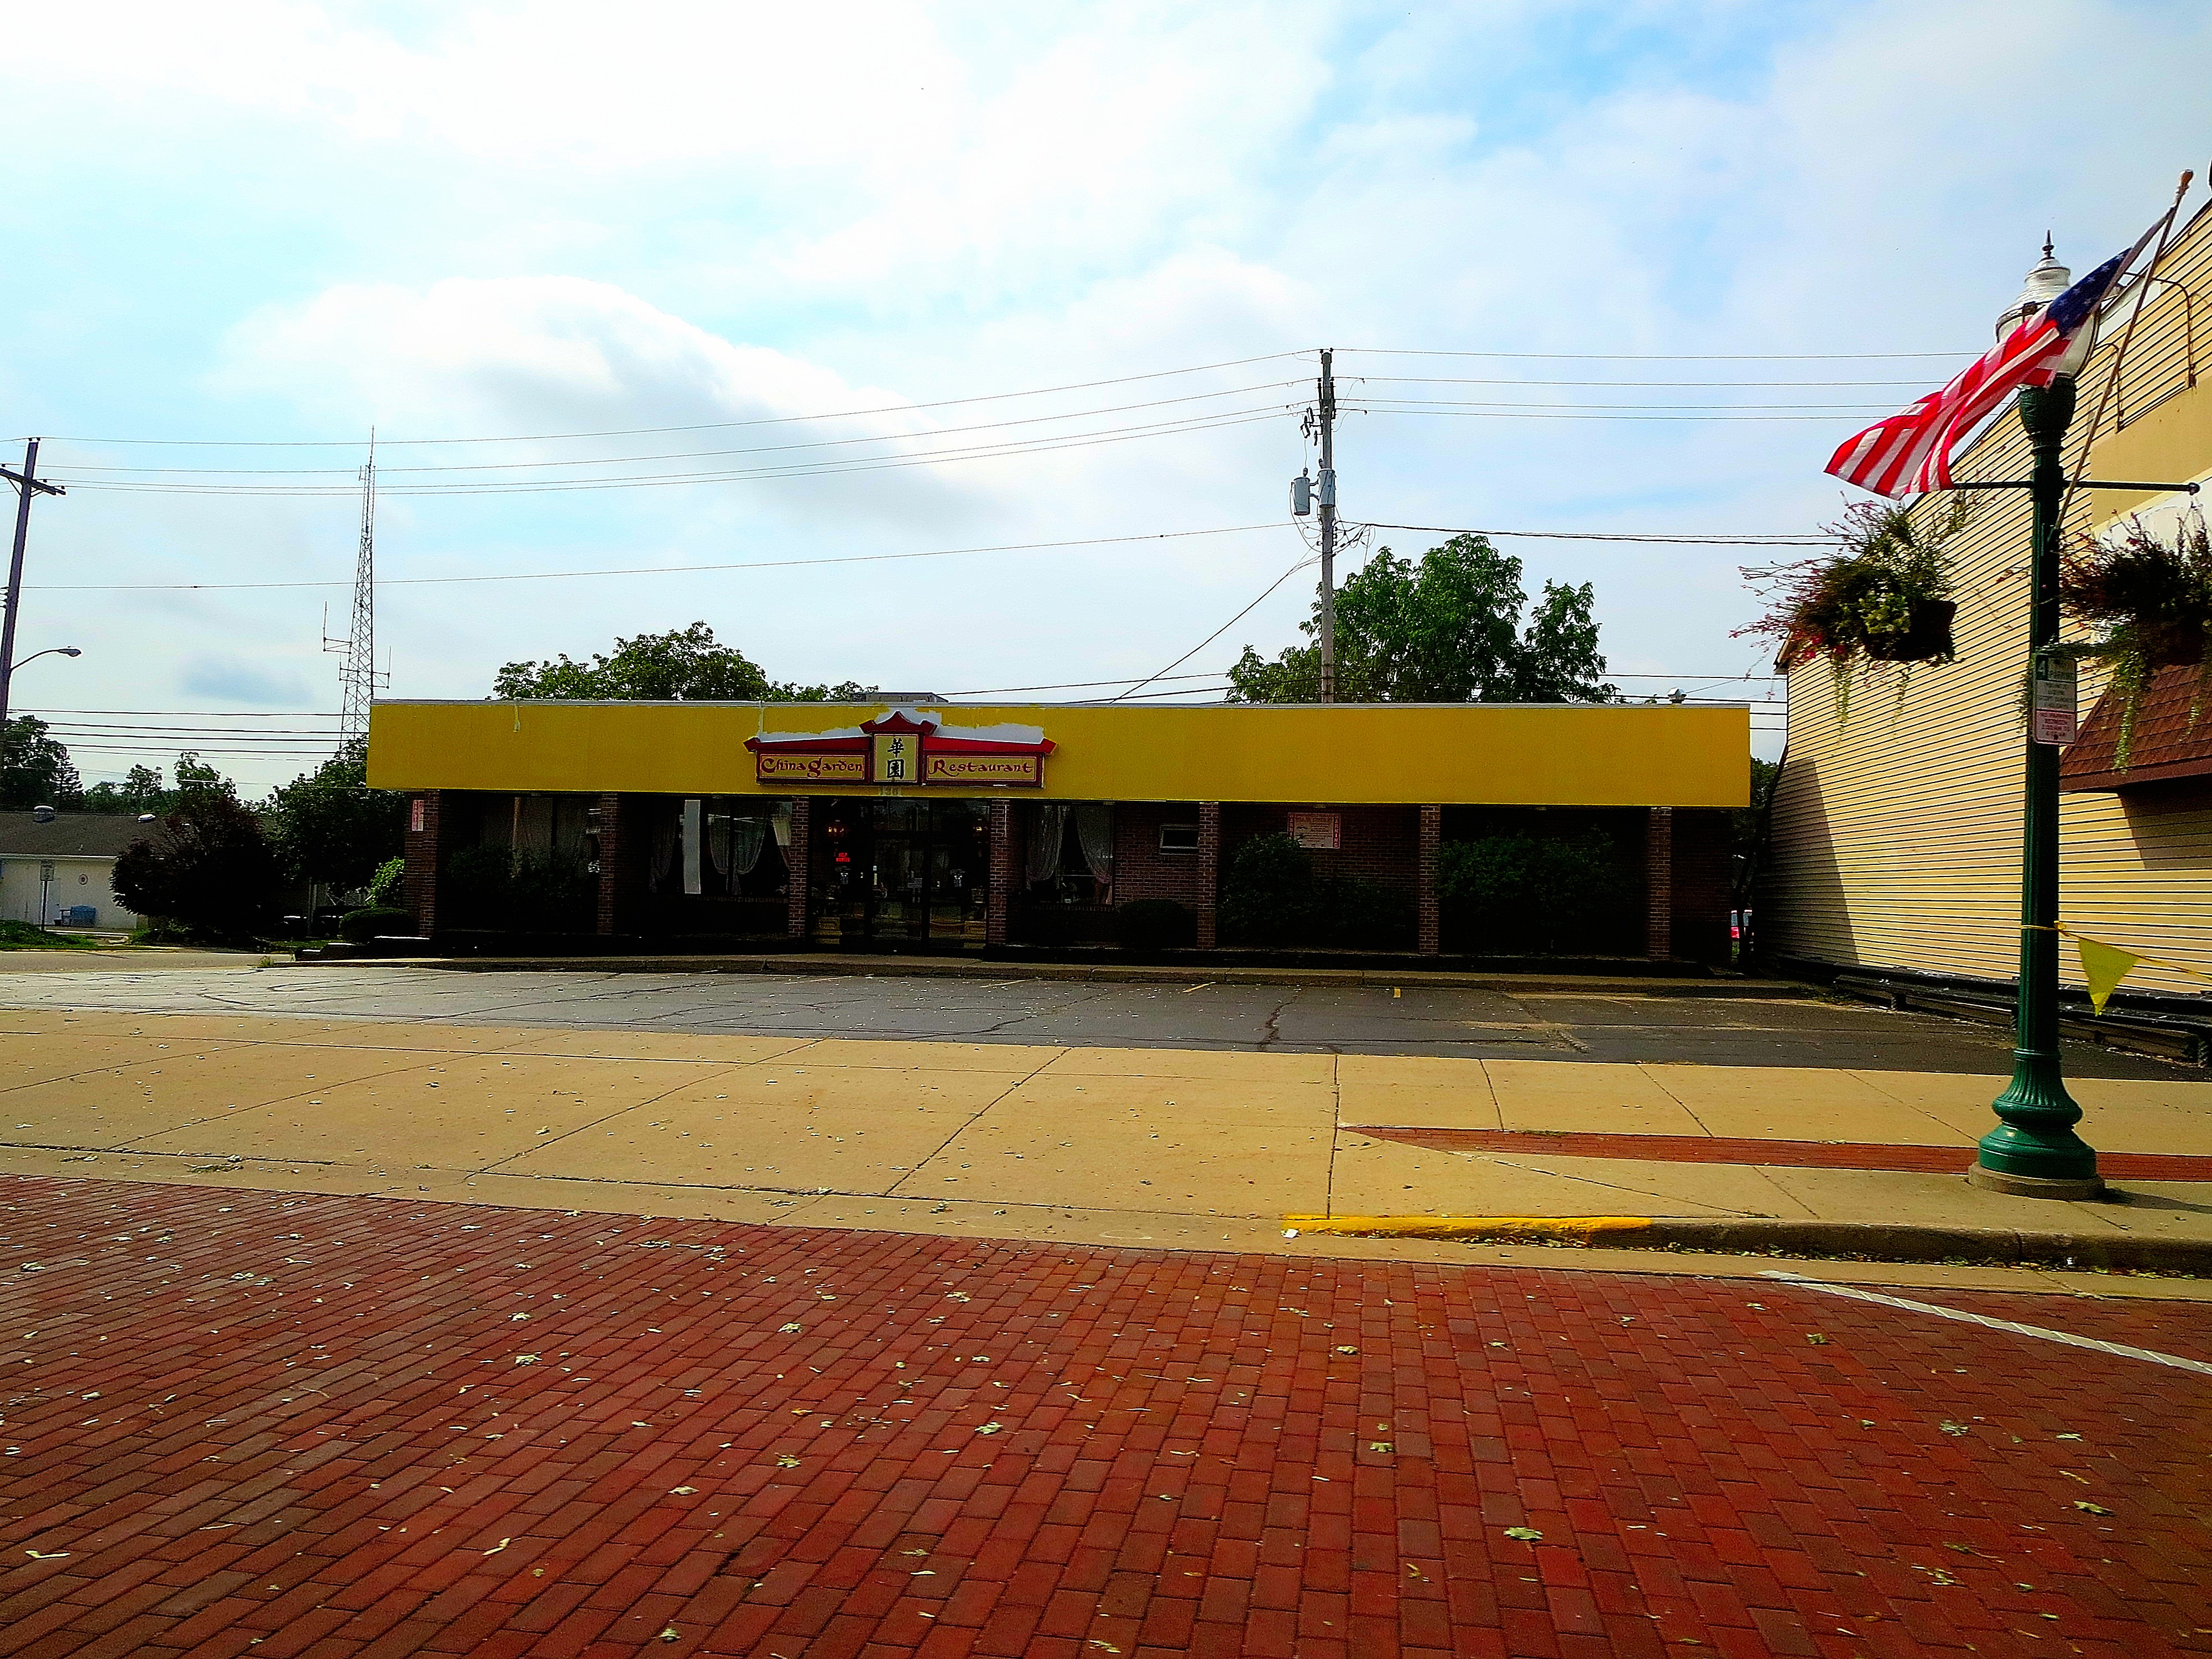
<svg viewBox="0 0 2212 1659">
<path fill-rule="evenodd" d="M 1626 1217 L 1725 1225 L 1734 1248 L 1765 1248 L 1759 1228 L 1774 1243 L 1836 1237 L 1807 1223 L 1871 1241 L 1902 1223 L 2190 1245 L 2212 1263 L 2212 1084 L 2075 1082 L 2084 1130 L 2119 1177 L 2101 1203 L 1966 1186 L 1997 1086 L 1911 1071 L 13 1011 L 0 1013 L 0 1170 L 1451 1261 L 1475 1245 L 1287 1241 L 1285 1221 Z M 1619 1254 L 1632 1252 L 1590 1259 Z"/>
</svg>

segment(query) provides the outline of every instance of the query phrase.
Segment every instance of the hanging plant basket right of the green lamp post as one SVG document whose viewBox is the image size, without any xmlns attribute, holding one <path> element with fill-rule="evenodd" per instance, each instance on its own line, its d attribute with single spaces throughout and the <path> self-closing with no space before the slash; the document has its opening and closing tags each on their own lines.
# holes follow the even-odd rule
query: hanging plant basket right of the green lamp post
<svg viewBox="0 0 2212 1659">
<path fill-rule="evenodd" d="M 2203 708 L 2212 659 L 2212 538 L 2203 513 L 2188 513 L 2166 540 L 2130 520 L 2110 542 L 2081 540 L 2059 564 L 2059 604 L 2097 628 L 2088 655 L 2110 664 L 2110 690 L 2119 697 L 2119 739 L 2112 770 L 2126 772 L 2135 748 L 2135 719 L 2143 692 L 2161 668 L 2197 670 L 2190 726 Z"/>
</svg>

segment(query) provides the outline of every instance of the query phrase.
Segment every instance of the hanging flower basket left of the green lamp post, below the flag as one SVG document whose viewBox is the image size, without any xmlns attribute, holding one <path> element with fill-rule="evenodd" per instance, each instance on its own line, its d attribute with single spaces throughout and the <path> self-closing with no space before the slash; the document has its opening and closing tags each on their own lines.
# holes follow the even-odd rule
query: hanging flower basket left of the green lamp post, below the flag
<svg viewBox="0 0 2212 1659">
<path fill-rule="evenodd" d="M 1951 562 L 1944 553 L 1971 502 L 1953 495 L 1913 520 L 1911 509 L 1858 502 L 1829 524 L 1838 549 L 1827 557 L 1745 568 L 1770 599 L 1741 635 L 1776 639 L 1783 661 L 1827 657 L 1836 714 L 1849 714 L 1851 670 L 1860 664 L 1951 661 Z M 1898 692 L 1905 679 L 1900 675 Z"/>
</svg>

